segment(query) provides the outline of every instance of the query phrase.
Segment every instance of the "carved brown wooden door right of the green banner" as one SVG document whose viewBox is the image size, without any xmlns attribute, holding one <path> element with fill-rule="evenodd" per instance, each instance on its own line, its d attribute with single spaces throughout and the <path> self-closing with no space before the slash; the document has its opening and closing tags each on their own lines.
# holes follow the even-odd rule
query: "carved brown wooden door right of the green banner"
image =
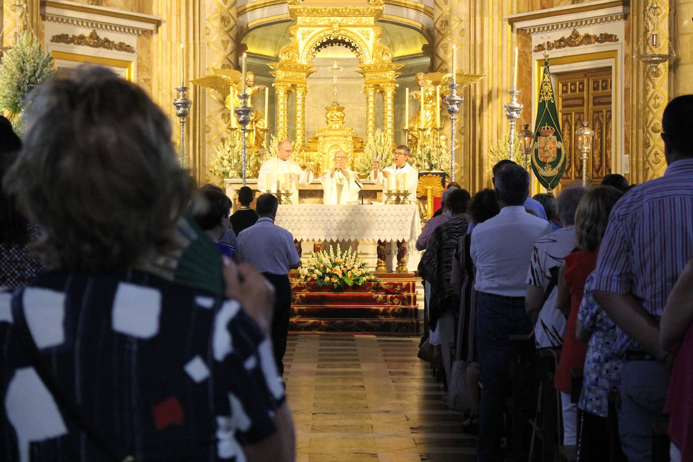
<svg viewBox="0 0 693 462">
<path fill-rule="evenodd" d="M 559 117 L 565 150 L 565 174 L 561 186 L 582 179 L 582 157 L 575 144 L 575 130 L 582 121 L 595 131 L 592 152 L 588 156 L 588 179 L 600 184 L 611 173 L 612 139 L 612 78 L 611 69 L 574 71 L 556 75 Z"/>
</svg>

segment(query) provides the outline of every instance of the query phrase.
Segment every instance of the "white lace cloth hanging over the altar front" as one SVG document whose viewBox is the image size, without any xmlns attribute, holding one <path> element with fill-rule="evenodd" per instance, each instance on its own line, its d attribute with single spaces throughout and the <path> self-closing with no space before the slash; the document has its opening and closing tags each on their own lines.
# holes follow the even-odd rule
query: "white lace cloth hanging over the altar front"
<svg viewBox="0 0 693 462">
<path fill-rule="evenodd" d="M 274 222 L 297 240 L 413 242 L 421 233 L 414 204 L 280 205 Z"/>
</svg>

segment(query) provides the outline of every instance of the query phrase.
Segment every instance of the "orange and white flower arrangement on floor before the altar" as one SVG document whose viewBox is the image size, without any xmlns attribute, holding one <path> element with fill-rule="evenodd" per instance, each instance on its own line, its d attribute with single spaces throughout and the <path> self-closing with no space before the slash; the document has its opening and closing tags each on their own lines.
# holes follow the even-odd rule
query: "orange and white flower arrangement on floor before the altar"
<svg viewBox="0 0 693 462">
<path fill-rule="evenodd" d="M 301 278 L 318 287 L 331 285 L 335 289 L 352 285 L 378 282 L 378 278 L 367 269 L 365 263 L 351 249 L 337 251 L 330 246 L 329 251 L 321 250 L 314 254 L 308 263 L 299 269 Z"/>
</svg>

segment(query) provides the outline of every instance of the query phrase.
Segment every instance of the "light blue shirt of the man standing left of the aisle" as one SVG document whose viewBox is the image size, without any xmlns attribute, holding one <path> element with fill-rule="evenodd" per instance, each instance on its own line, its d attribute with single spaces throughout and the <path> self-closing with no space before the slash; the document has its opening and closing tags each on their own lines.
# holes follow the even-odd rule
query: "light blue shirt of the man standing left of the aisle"
<svg viewBox="0 0 693 462">
<path fill-rule="evenodd" d="M 238 233 L 240 260 L 261 273 L 288 274 L 301 258 L 294 245 L 294 236 L 277 226 L 270 217 L 260 217 L 249 228 Z"/>
</svg>

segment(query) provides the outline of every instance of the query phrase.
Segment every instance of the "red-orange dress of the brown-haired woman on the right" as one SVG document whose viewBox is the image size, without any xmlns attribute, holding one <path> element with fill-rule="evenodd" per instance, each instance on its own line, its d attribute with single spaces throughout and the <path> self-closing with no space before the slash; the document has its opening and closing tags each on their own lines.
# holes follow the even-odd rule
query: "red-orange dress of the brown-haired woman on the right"
<svg viewBox="0 0 693 462">
<path fill-rule="evenodd" d="M 565 340 L 554 377 L 554 387 L 563 393 L 570 393 L 572 369 L 581 369 L 585 366 L 587 344 L 575 338 L 575 325 L 577 310 L 580 308 L 585 291 L 585 281 L 597 266 L 597 252 L 580 250 L 566 255 L 563 261 L 568 267 L 568 271 L 565 272 L 565 283 L 568 284 L 568 292 L 570 292 L 570 314 L 565 323 Z"/>
</svg>

